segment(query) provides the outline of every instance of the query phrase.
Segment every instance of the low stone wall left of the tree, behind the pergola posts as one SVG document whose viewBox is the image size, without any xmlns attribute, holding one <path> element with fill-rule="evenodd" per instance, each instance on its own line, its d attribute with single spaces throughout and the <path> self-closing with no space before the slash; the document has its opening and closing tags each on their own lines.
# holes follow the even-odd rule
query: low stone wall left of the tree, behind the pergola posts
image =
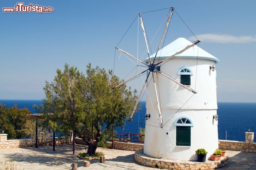
<svg viewBox="0 0 256 170">
<path fill-rule="evenodd" d="M 51 146 L 53 138 L 43 138 L 38 140 L 38 146 Z M 60 137 L 55 138 L 55 145 L 69 144 L 71 142 L 71 137 Z M 0 141 L 0 149 L 4 148 L 21 148 L 21 147 L 34 147 L 36 146 L 35 139 L 21 139 L 21 140 L 6 140 Z"/>
</svg>

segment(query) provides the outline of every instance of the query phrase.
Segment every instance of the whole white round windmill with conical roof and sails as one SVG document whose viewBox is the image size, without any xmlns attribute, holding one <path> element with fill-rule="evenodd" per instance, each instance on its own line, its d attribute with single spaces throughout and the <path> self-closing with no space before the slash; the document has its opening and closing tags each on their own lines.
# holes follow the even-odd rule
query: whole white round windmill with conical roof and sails
<svg viewBox="0 0 256 170">
<path fill-rule="evenodd" d="M 208 157 L 218 148 L 216 72 L 219 60 L 191 43 L 178 38 L 160 49 L 174 7 L 156 53 L 149 56 L 142 15 L 139 14 L 148 58 L 145 61 L 119 48 L 123 54 L 143 63 L 147 69 L 113 87 L 148 72 L 139 99 L 146 87 L 146 120 L 144 153 L 156 158 L 196 160 L 195 151 L 205 148 Z M 160 49 L 160 50 L 159 50 Z"/>
</svg>

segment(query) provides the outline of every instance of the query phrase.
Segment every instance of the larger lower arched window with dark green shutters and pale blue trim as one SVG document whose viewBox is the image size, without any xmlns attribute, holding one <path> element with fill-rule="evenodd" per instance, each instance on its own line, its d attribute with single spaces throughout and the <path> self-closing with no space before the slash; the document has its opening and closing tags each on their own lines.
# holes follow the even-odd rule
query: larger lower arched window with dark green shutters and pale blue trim
<svg viewBox="0 0 256 170">
<path fill-rule="evenodd" d="M 192 120 L 186 116 L 178 117 L 174 121 L 176 126 L 176 146 L 191 146 Z"/>
</svg>

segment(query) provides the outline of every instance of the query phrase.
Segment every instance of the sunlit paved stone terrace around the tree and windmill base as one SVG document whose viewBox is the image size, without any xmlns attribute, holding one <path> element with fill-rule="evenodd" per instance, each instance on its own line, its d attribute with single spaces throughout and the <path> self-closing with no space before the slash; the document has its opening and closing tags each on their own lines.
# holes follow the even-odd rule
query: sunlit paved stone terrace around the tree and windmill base
<svg viewBox="0 0 256 170">
<path fill-rule="evenodd" d="M 84 146 L 76 146 L 76 153 L 85 151 Z M 90 160 L 90 167 L 83 166 L 83 160 L 72 154 L 72 145 L 58 145 L 38 148 L 0 149 L 0 162 L 12 159 L 17 170 L 65 170 L 72 169 L 72 163 L 78 164 L 78 170 L 155 170 L 139 165 L 134 161 L 134 151 L 97 148 L 96 152 L 105 153 L 105 163 Z M 229 164 L 220 170 L 256 170 L 256 153 L 226 151 Z"/>
</svg>

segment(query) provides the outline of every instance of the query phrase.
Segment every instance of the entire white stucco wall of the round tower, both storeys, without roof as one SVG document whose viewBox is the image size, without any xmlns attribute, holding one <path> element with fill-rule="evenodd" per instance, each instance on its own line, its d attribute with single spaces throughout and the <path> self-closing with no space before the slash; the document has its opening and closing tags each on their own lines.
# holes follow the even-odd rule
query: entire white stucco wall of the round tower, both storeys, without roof
<svg viewBox="0 0 256 170">
<path fill-rule="evenodd" d="M 193 75 L 189 87 L 197 92 L 193 94 L 163 75 L 155 79 L 159 90 L 163 129 L 159 125 L 153 80 L 149 77 L 146 114 L 151 117 L 145 128 L 145 154 L 156 158 L 162 154 L 162 158 L 167 159 L 197 160 L 195 151 L 198 148 L 205 148 L 207 157 L 218 148 L 218 121 L 213 119 L 213 115 L 217 114 L 216 71 L 209 69 L 214 64 L 212 60 L 177 58 L 161 66 L 162 72 L 178 81 L 178 69 L 184 66 L 191 68 Z M 181 116 L 189 117 L 194 124 L 191 127 L 190 147 L 176 146 L 174 120 Z"/>
</svg>

